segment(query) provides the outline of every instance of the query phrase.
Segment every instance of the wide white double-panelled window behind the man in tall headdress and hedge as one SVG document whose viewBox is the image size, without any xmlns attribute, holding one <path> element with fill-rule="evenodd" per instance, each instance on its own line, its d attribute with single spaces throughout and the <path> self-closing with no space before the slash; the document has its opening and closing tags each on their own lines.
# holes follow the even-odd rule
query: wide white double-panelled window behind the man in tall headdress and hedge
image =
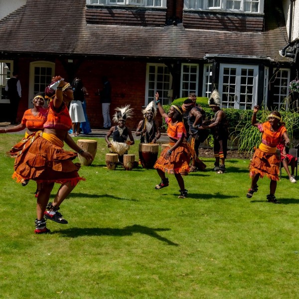
<svg viewBox="0 0 299 299">
<path fill-rule="evenodd" d="M 222 107 L 253 109 L 257 104 L 257 79 L 257 66 L 222 64 L 219 80 Z"/>
</svg>

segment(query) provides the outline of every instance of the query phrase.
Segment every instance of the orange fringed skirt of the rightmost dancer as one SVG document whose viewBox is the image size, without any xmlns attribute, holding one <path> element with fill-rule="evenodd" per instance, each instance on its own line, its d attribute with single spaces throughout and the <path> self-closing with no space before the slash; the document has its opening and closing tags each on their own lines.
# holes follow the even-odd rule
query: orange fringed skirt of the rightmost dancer
<svg viewBox="0 0 299 299">
<path fill-rule="evenodd" d="M 249 166 L 249 175 L 251 177 L 260 174 L 268 176 L 271 180 L 279 180 L 280 159 L 276 153 L 265 153 L 261 149 L 256 149 Z"/>
</svg>

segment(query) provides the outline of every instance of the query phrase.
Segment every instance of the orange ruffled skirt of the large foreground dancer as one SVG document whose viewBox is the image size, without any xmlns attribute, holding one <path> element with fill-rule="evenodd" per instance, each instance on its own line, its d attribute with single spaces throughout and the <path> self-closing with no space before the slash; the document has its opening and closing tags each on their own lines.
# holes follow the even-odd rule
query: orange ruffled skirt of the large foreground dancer
<svg viewBox="0 0 299 299">
<path fill-rule="evenodd" d="M 8 155 L 15 157 L 12 178 L 17 182 L 25 179 L 35 180 L 37 183 L 71 182 L 76 185 L 80 180 L 78 170 L 80 163 L 73 163 L 77 153 L 66 151 L 33 133 L 16 144 Z"/>
</svg>

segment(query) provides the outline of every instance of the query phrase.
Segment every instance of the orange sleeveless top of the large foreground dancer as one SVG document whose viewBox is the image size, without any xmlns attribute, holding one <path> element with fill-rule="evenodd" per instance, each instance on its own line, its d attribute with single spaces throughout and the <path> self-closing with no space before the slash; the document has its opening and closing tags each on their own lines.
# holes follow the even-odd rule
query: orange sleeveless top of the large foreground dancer
<svg viewBox="0 0 299 299">
<path fill-rule="evenodd" d="M 48 118 L 43 127 L 47 129 L 70 130 L 72 120 L 65 103 L 61 105 L 59 111 L 53 105 L 53 101 L 50 102 Z"/>
</svg>

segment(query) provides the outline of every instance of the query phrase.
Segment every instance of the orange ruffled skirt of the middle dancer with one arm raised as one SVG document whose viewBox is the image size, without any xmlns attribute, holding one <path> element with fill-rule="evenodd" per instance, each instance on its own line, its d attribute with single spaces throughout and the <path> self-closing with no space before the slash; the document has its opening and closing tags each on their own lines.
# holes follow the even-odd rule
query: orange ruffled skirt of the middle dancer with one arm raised
<svg viewBox="0 0 299 299">
<path fill-rule="evenodd" d="M 189 172 L 189 162 L 191 158 L 191 153 L 188 149 L 187 144 L 183 143 L 180 147 L 176 148 L 171 152 L 168 159 L 165 158 L 167 150 L 172 147 L 174 143 L 170 143 L 162 152 L 159 158 L 156 160 L 153 168 L 161 169 L 168 173 L 180 173 Z"/>
</svg>

